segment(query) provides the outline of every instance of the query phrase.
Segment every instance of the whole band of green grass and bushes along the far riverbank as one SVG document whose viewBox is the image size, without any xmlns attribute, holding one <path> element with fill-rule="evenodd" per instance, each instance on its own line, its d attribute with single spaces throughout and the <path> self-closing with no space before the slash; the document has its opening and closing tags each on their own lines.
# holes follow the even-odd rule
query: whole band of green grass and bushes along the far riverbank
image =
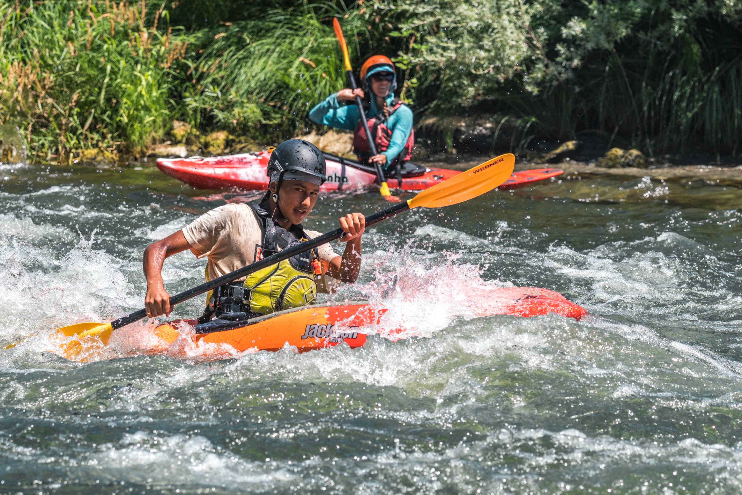
<svg viewBox="0 0 742 495">
<path fill-rule="evenodd" d="M 335 16 L 356 70 L 393 56 L 418 119 L 497 115 L 523 146 L 592 133 L 648 154 L 741 151 L 738 0 L 5 0 L 0 124 L 58 163 L 139 156 L 173 121 L 194 142 L 301 134 L 345 84 Z"/>
</svg>

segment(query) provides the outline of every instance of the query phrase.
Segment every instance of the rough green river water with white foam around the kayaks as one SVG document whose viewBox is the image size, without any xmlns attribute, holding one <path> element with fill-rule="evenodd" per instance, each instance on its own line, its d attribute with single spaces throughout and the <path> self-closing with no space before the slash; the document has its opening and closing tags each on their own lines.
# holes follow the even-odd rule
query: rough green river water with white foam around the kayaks
<svg viewBox="0 0 742 495">
<path fill-rule="evenodd" d="M 0 344 L 26 339 L 0 350 L 0 494 L 742 491 L 742 191 L 555 180 L 380 223 L 332 298 L 387 306 L 398 341 L 50 352 L 56 327 L 142 306 L 145 246 L 246 199 L 148 167 L 0 165 Z M 306 226 L 387 205 L 329 194 Z M 165 285 L 204 266 L 176 255 Z M 590 315 L 477 318 L 461 296 L 510 283 Z"/>
</svg>

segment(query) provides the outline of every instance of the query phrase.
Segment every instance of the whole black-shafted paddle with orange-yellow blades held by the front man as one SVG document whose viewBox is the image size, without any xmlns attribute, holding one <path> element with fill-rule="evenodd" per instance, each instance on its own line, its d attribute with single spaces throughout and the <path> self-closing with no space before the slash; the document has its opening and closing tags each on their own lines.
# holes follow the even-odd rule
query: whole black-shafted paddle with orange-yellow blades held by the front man
<svg viewBox="0 0 742 495">
<path fill-rule="evenodd" d="M 441 183 L 436 184 L 430 189 L 426 189 L 421 193 L 417 194 L 410 200 L 404 203 L 399 203 L 395 206 L 372 214 L 366 218 L 366 226 L 371 226 L 374 223 L 386 220 L 389 217 L 393 217 L 395 214 L 406 212 L 413 208 L 440 208 L 441 206 L 455 205 L 456 203 L 463 203 L 464 201 L 473 199 L 474 197 L 485 194 L 485 192 L 495 189 L 508 180 L 510 174 L 513 173 L 513 166 L 515 165 L 515 157 L 513 154 L 502 154 L 499 157 L 488 160 L 482 165 L 477 165 L 474 168 L 462 172 L 462 174 L 455 175 L 448 180 L 444 180 Z M 214 280 L 202 283 L 200 286 L 196 286 L 193 289 L 188 289 L 185 292 L 174 295 L 170 298 L 170 306 L 175 306 L 178 303 L 187 301 L 194 296 L 209 292 L 216 287 L 237 280 L 237 278 L 244 277 L 253 272 L 257 272 L 267 266 L 272 266 L 279 261 L 291 258 L 293 255 L 297 255 L 300 252 L 308 251 L 322 244 L 329 243 L 331 240 L 339 239 L 343 235 L 343 229 L 335 229 L 332 232 L 327 232 L 320 237 L 315 237 L 312 240 L 306 240 L 302 243 L 298 243 L 289 249 L 284 249 L 275 255 L 263 258 L 260 261 L 252 263 L 251 265 L 245 266 L 232 273 L 228 273 Z M 131 315 L 124 316 L 118 320 L 111 321 L 111 323 L 78 323 L 70 325 L 68 327 L 62 327 L 57 330 L 62 335 L 72 337 L 77 335 L 78 340 L 70 341 L 65 344 L 62 350 L 62 355 L 65 358 L 73 359 L 76 358 L 82 351 L 83 339 L 89 339 L 97 336 L 103 344 L 108 343 L 108 338 L 111 332 L 117 328 L 124 327 L 134 321 L 139 321 L 145 318 L 147 315 L 145 309 L 139 309 L 139 311 L 131 313 Z M 16 344 L 6 347 L 9 349 Z"/>
</svg>

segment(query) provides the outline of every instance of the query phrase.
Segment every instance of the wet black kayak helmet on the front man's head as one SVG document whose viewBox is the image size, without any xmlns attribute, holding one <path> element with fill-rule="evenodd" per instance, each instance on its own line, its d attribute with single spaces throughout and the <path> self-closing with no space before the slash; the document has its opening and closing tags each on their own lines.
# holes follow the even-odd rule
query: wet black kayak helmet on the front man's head
<svg viewBox="0 0 742 495">
<path fill-rule="evenodd" d="M 266 175 L 270 182 L 278 182 L 280 189 L 283 180 L 292 179 L 308 180 L 321 186 L 327 180 L 325 171 L 324 154 L 317 146 L 305 140 L 286 140 L 272 151 Z"/>
</svg>

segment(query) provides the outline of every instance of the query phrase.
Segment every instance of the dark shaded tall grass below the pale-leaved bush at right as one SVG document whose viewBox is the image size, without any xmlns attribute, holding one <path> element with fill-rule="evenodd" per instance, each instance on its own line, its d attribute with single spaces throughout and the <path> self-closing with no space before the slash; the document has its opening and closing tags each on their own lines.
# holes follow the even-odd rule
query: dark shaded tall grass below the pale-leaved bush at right
<svg viewBox="0 0 742 495">
<path fill-rule="evenodd" d="M 534 119 L 533 131 L 551 140 L 591 131 L 604 137 L 606 148 L 738 156 L 742 56 L 702 70 L 672 50 L 641 59 L 626 52 L 604 55 L 539 95 L 503 96 L 500 102 Z"/>
</svg>

